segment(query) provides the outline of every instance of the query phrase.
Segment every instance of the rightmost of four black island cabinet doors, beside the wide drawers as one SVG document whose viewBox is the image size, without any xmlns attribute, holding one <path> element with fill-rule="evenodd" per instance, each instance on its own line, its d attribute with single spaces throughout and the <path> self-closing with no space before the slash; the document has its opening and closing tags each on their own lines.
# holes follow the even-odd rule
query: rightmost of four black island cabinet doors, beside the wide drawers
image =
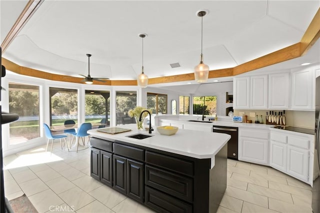
<svg viewBox="0 0 320 213">
<path fill-rule="evenodd" d="M 127 159 L 127 196 L 143 203 L 144 165 Z"/>
</svg>

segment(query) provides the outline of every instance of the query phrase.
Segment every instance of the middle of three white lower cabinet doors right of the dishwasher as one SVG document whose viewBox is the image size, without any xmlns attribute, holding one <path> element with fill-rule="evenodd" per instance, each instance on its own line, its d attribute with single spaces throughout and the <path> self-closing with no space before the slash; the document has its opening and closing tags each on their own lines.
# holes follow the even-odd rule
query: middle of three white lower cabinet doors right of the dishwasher
<svg viewBox="0 0 320 213">
<path fill-rule="evenodd" d="M 271 141 L 270 166 L 274 169 L 286 172 L 286 144 Z"/>
</svg>

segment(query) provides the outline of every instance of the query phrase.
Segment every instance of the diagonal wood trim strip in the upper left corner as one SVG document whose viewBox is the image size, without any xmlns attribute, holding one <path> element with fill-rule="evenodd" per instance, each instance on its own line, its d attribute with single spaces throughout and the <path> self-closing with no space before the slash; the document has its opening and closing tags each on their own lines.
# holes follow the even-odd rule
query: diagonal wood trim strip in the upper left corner
<svg viewBox="0 0 320 213">
<path fill-rule="evenodd" d="M 15 38 L 18 32 L 22 29 L 24 24 L 29 20 L 33 13 L 39 8 L 43 0 L 29 0 L 22 10 L 19 17 L 16 19 L 15 23 L 11 27 L 8 34 L 5 36 L 3 42 L 1 43 L 2 54 L 11 41 Z"/>
</svg>

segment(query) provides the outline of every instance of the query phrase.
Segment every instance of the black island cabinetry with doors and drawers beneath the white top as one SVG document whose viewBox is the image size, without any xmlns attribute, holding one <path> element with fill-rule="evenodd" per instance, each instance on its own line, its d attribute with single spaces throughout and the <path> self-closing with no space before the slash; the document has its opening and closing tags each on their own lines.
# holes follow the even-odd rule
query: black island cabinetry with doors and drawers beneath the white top
<svg viewBox="0 0 320 213">
<path fill-rule="evenodd" d="M 216 212 L 226 188 L 227 145 L 211 161 L 117 140 L 90 143 L 91 177 L 114 190 L 156 212 Z"/>
</svg>

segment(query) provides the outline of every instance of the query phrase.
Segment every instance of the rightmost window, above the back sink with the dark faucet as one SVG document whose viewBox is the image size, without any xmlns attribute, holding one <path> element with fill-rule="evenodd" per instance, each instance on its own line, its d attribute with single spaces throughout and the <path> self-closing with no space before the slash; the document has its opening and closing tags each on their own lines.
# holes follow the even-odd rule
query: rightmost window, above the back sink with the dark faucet
<svg viewBox="0 0 320 213">
<path fill-rule="evenodd" d="M 216 115 L 216 96 L 193 96 L 193 115 Z"/>
</svg>

